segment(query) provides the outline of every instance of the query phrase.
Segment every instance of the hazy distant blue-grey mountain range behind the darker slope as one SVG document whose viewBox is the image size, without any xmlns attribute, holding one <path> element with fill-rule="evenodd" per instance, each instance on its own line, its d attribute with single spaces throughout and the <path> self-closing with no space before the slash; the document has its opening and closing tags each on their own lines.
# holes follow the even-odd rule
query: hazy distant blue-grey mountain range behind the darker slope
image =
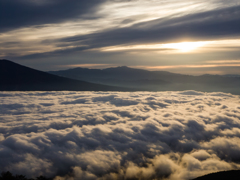
<svg viewBox="0 0 240 180">
<path fill-rule="evenodd" d="M 126 66 L 107 69 L 74 68 L 49 73 L 92 83 L 148 91 L 197 90 L 240 94 L 240 76 L 191 76 L 166 71 L 147 71 Z"/>
</svg>

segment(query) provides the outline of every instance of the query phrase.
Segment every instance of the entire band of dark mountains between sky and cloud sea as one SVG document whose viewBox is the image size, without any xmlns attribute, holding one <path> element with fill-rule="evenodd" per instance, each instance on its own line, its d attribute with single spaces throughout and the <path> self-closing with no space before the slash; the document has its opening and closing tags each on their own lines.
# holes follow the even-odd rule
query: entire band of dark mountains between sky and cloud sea
<svg viewBox="0 0 240 180">
<path fill-rule="evenodd" d="M 183 91 L 240 94 L 240 77 L 192 76 L 127 66 L 43 72 L 0 60 L 0 91 Z"/>
</svg>

